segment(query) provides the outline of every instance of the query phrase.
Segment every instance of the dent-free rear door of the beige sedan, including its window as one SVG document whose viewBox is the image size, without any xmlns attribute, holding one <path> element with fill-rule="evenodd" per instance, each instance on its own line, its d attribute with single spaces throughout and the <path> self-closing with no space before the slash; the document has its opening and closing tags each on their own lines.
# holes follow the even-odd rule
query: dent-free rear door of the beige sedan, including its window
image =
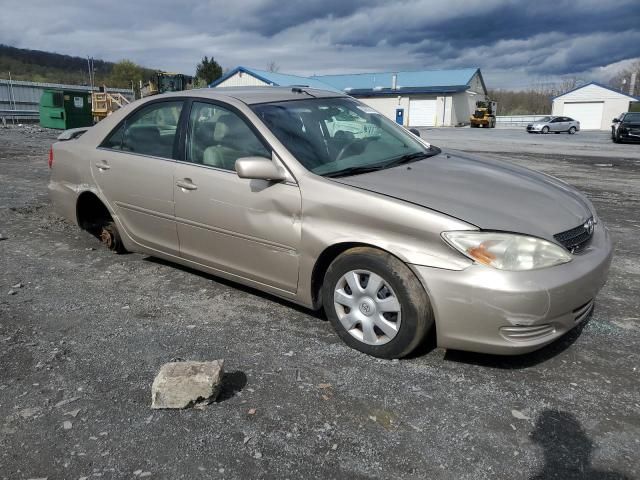
<svg viewBox="0 0 640 480">
<path fill-rule="evenodd" d="M 121 227 L 147 248 L 178 255 L 173 174 L 184 101 L 153 101 L 127 117 L 96 151 L 91 171 Z"/>
</svg>

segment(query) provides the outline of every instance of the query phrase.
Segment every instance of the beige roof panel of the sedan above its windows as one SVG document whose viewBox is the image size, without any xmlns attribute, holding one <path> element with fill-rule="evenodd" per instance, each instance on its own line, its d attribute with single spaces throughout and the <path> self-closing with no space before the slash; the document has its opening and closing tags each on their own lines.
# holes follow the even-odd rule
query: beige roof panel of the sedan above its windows
<svg viewBox="0 0 640 480">
<path fill-rule="evenodd" d="M 303 100 L 312 97 L 331 98 L 347 97 L 347 95 L 329 90 L 318 90 L 306 87 L 222 87 L 222 88 L 196 88 L 182 92 L 170 92 L 155 95 L 153 98 L 165 97 L 200 97 L 213 100 L 227 100 L 234 98 L 247 105 L 269 102 L 284 102 L 287 100 Z"/>
</svg>

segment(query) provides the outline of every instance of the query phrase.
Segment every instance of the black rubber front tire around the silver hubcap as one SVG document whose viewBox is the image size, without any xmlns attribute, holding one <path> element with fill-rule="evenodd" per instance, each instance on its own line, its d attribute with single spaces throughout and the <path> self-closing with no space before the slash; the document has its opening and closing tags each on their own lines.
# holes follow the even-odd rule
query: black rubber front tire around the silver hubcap
<svg viewBox="0 0 640 480">
<path fill-rule="evenodd" d="M 397 297 L 400 304 L 400 327 L 387 343 L 367 344 L 349 333 L 339 320 L 334 292 L 342 277 L 354 270 L 366 270 L 379 275 Z M 410 354 L 434 324 L 429 297 L 409 267 L 393 255 L 369 247 L 347 250 L 331 263 L 324 277 L 322 303 L 333 328 L 347 345 L 379 358 L 401 358 Z M 357 324 L 354 328 L 358 328 Z M 359 328 L 364 331 L 362 324 Z"/>
</svg>

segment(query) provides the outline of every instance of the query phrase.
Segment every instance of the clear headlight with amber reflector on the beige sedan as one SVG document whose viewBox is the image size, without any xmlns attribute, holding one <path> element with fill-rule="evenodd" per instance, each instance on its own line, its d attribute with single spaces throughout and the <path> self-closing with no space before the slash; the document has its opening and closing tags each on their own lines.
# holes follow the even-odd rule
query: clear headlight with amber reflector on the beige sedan
<svg viewBox="0 0 640 480">
<path fill-rule="evenodd" d="M 499 270 L 521 271 L 551 267 L 571 261 L 562 247 L 513 233 L 443 232 L 443 238 L 472 260 Z"/>
</svg>

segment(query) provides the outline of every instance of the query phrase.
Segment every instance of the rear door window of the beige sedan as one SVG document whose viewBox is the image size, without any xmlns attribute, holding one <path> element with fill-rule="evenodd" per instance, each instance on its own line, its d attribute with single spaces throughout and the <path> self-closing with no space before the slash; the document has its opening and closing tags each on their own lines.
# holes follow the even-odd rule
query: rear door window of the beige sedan
<svg viewBox="0 0 640 480">
<path fill-rule="evenodd" d="M 173 158 L 182 101 L 152 103 L 129 116 L 101 147 Z"/>
</svg>

